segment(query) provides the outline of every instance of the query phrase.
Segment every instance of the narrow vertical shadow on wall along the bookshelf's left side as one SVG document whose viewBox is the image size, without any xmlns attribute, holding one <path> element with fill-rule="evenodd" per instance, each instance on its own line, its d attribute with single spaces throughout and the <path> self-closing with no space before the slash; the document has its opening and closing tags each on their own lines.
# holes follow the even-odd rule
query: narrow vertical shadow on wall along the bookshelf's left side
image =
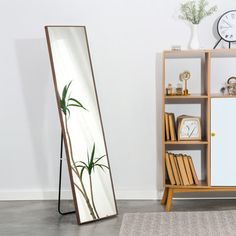
<svg viewBox="0 0 236 236">
<path fill-rule="evenodd" d="M 163 190 L 162 181 L 162 54 L 156 54 L 156 153 L 157 153 L 157 190 Z M 161 197 L 161 196 L 159 196 Z"/>
</svg>

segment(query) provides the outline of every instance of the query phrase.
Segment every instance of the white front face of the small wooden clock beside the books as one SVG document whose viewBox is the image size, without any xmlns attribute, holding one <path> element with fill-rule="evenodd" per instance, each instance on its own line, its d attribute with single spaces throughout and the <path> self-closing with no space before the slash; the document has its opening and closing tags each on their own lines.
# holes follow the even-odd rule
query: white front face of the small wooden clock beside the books
<svg viewBox="0 0 236 236">
<path fill-rule="evenodd" d="M 184 119 L 180 128 L 180 139 L 201 139 L 198 119 Z"/>
</svg>

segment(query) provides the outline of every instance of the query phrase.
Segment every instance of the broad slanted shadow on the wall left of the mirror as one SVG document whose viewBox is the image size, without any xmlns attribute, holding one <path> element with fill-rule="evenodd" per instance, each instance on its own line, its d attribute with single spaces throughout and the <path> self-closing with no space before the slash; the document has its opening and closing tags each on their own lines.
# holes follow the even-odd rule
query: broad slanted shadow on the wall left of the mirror
<svg viewBox="0 0 236 236">
<path fill-rule="evenodd" d="M 15 41 L 38 187 L 57 186 L 60 126 L 45 39 Z M 51 164 L 50 164 L 51 163 Z M 53 165 L 56 164 L 56 167 Z M 56 175 L 57 176 L 57 175 Z M 56 181 L 56 182 L 55 182 Z"/>
</svg>

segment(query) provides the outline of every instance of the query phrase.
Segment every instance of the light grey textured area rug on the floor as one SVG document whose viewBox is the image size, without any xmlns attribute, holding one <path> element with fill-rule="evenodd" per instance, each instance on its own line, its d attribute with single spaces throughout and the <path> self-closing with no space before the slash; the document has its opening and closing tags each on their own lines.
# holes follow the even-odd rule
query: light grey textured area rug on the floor
<svg viewBox="0 0 236 236">
<path fill-rule="evenodd" d="M 120 236 L 236 236 L 236 211 L 128 213 Z"/>
</svg>

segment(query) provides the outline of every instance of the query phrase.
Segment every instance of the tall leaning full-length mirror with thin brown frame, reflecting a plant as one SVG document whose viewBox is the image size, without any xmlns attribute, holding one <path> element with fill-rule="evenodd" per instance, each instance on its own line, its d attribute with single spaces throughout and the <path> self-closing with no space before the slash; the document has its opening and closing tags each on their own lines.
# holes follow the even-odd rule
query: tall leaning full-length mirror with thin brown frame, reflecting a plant
<svg viewBox="0 0 236 236">
<path fill-rule="evenodd" d="M 86 29 L 46 26 L 79 224 L 117 214 Z"/>
</svg>

